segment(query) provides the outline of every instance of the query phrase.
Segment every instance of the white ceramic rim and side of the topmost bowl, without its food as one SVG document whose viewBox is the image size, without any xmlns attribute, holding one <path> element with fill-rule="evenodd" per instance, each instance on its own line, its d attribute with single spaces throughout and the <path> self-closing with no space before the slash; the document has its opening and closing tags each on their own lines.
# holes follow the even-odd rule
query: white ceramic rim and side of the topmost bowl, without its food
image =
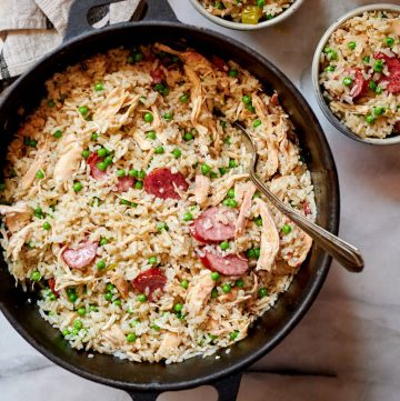
<svg viewBox="0 0 400 401">
<path fill-rule="evenodd" d="M 227 21 L 223 18 L 217 17 L 217 16 L 212 16 L 210 14 L 204 7 L 200 3 L 199 0 L 190 0 L 190 2 L 192 3 L 192 6 L 202 14 L 207 19 L 209 19 L 210 21 L 217 23 L 218 26 L 221 26 L 223 28 L 229 28 L 229 29 L 236 29 L 238 31 L 256 31 L 258 29 L 262 29 L 262 28 L 267 28 L 267 27 L 271 27 L 274 26 L 276 23 L 279 23 L 283 20 L 286 20 L 288 17 L 290 17 L 293 12 L 296 12 L 299 7 L 302 4 L 304 0 L 294 0 L 294 2 L 283 12 L 281 12 L 279 16 L 267 20 L 267 21 L 262 21 L 260 23 L 257 24 L 250 24 L 250 23 L 241 23 L 241 22 L 232 22 L 232 21 Z"/>
</svg>

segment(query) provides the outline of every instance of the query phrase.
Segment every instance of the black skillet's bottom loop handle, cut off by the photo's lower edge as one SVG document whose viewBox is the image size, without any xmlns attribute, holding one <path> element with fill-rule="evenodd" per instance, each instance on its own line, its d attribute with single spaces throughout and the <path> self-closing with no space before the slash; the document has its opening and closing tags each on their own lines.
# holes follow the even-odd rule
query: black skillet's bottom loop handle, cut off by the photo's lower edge
<svg viewBox="0 0 400 401">
<path fill-rule="evenodd" d="M 237 401 L 242 373 L 236 373 L 210 383 L 218 391 L 218 401 Z M 161 392 L 129 391 L 133 401 L 157 401 Z"/>
</svg>

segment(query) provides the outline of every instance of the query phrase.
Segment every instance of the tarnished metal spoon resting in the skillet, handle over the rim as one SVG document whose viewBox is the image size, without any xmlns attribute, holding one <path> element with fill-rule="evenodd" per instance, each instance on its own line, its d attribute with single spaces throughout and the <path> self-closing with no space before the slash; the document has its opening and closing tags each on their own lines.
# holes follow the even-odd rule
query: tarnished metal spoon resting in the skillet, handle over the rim
<svg viewBox="0 0 400 401">
<path fill-rule="evenodd" d="M 347 270 L 351 272 L 360 272 L 363 269 L 363 260 L 360 251 L 350 244 L 333 235 L 331 232 L 322 229 L 318 224 L 306 219 L 302 214 L 298 213 L 294 209 L 283 203 L 277 198 L 257 177 L 257 148 L 253 139 L 239 122 L 233 124 L 243 133 L 248 142 L 251 144 L 252 160 L 250 166 L 250 178 L 256 187 L 268 198 L 268 200 L 284 215 L 292 220 L 298 227 L 307 232 L 324 251 L 332 258 L 341 263 Z"/>
</svg>

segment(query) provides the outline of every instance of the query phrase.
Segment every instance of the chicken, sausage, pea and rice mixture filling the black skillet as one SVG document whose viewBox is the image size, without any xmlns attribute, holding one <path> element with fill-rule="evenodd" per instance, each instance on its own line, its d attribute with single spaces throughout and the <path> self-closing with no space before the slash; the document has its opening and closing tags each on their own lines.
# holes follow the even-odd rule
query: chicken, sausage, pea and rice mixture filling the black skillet
<svg viewBox="0 0 400 401">
<path fill-rule="evenodd" d="M 73 348 L 210 355 L 247 335 L 307 258 L 311 239 L 256 190 L 231 124 L 252 134 L 260 179 L 314 220 L 279 96 L 210 60 L 159 43 L 92 57 L 47 82 L 9 146 L 4 258 Z"/>
</svg>

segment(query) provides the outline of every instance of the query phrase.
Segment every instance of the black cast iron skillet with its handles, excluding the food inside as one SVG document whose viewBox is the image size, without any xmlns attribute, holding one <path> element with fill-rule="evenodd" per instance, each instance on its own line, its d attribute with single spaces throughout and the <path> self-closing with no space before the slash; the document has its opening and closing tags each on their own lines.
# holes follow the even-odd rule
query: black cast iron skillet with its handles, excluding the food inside
<svg viewBox="0 0 400 401">
<path fill-rule="evenodd" d="M 266 90 L 276 89 L 280 100 L 297 127 L 318 203 L 318 223 L 337 233 L 339 227 L 339 186 L 331 151 L 316 116 L 294 86 L 268 60 L 219 33 L 177 21 L 167 0 L 150 0 L 146 19 L 138 23 L 123 23 L 98 31 L 87 22 L 88 10 L 110 0 L 78 0 L 71 8 L 67 40 L 22 76 L 9 90 L 0 106 L 0 147 L 3 164 L 7 144 L 26 113 L 39 104 L 44 94 L 43 82 L 54 72 L 77 63 L 93 53 L 119 46 L 162 41 L 174 47 L 187 43 L 203 53 L 232 59 L 249 69 L 264 82 Z M 168 22 L 166 22 L 168 21 Z M 71 39 L 74 37 L 74 39 Z M 0 166 L 2 168 L 3 166 Z M 212 384 L 220 400 L 236 400 L 241 372 L 250 363 L 274 348 L 300 321 L 316 299 L 329 270 L 331 258 L 317 247 L 303 263 L 289 290 L 276 307 L 257 321 L 249 337 L 222 350 L 219 359 L 194 358 L 183 363 L 133 363 L 106 354 L 87 358 L 86 352 L 73 350 L 62 335 L 40 318 L 32 294 L 16 288 L 0 258 L 0 307 L 14 329 L 39 352 L 57 364 L 83 378 L 127 390 L 132 399 L 156 400 L 163 391 Z M 284 345 L 282 345 L 284 347 Z M 284 391 L 284 390 L 283 390 Z"/>
</svg>

